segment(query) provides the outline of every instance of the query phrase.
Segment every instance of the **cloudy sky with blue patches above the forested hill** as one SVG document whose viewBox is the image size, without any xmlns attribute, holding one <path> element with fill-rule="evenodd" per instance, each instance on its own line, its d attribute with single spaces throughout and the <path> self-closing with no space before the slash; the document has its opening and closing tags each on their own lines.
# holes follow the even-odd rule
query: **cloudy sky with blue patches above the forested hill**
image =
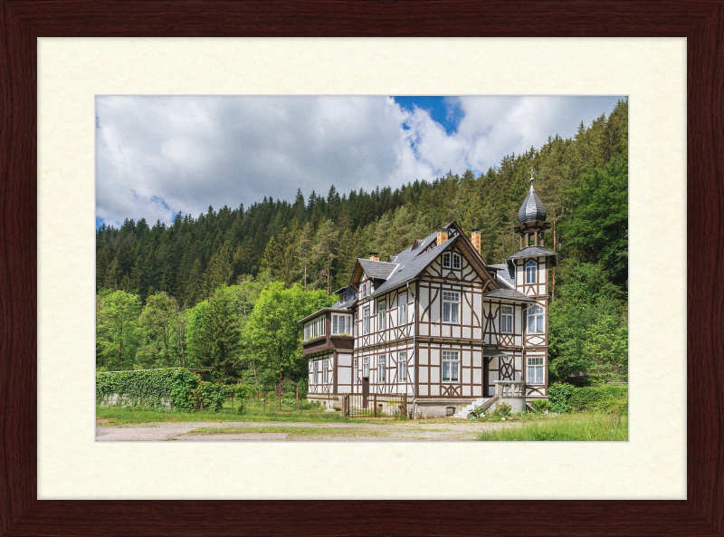
<svg viewBox="0 0 724 537">
<path fill-rule="evenodd" d="M 96 225 L 481 173 L 621 96 L 98 96 Z"/>
</svg>

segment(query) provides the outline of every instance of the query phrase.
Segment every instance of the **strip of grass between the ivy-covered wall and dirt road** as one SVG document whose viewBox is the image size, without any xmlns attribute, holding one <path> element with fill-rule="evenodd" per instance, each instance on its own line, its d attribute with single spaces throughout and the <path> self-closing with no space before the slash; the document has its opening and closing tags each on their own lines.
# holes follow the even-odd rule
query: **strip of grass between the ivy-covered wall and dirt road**
<svg viewBox="0 0 724 537">
<path fill-rule="evenodd" d="M 277 412 L 276 405 L 247 401 L 243 414 L 236 413 L 231 402 L 226 401 L 221 411 L 214 412 L 176 412 L 174 410 L 147 410 L 138 408 L 99 407 L 96 406 L 96 418 L 107 420 L 105 423 L 150 423 L 159 421 L 310 421 L 320 423 L 350 423 L 347 417 L 339 412 L 324 412 L 321 410 L 282 410 Z"/>
</svg>

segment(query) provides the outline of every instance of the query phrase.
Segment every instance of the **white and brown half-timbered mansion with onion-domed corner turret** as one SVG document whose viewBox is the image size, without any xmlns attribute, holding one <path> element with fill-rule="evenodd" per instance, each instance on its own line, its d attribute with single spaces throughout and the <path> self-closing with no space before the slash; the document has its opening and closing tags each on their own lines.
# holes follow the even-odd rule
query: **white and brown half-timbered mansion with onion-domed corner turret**
<svg viewBox="0 0 724 537">
<path fill-rule="evenodd" d="M 358 259 L 338 302 L 300 320 L 308 397 L 341 408 L 345 393 L 404 393 L 414 417 L 465 417 L 500 387 L 523 403 L 548 397 L 556 254 L 545 247 L 546 210 L 530 183 L 520 249 L 505 263 L 486 264 L 480 231 L 468 236 L 455 222 L 386 260 Z"/>
</svg>

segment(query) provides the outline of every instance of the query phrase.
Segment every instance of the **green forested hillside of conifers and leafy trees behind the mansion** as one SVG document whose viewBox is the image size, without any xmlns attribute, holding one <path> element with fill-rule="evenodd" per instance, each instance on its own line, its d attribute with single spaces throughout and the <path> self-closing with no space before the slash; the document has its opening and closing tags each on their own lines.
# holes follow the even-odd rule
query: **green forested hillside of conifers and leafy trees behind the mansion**
<svg viewBox="0 0 724 537">
<path fill-rule="evenodd" d="M 392 190 L 297 192 L 172 225 L 127 219 L 96 234 L 98 370 L 197 366 L 215 382 L 306 384 L 297 320 L 331 305 L 358 257 L 381 259 L 457 221 L 481 255 L 519 249 L 519 206 L 535 188 L 555 247 L 549 378 L 620 383 L 628 369 L 628 101 L 608 117 L 476 176 L 452 170 Z M 327 187 L 325 187 L 327 188 Z M 305 197 L 306 196 L 306 197 Z M 550 235 L 553 235 L 550 237 Z"/>
</svg>

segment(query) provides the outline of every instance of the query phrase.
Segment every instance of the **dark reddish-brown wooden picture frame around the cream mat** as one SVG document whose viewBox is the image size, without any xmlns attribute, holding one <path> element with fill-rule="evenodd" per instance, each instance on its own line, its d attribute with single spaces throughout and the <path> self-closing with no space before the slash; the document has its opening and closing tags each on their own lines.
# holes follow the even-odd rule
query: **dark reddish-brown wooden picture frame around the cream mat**
<svg viewBox="0 0 724 537">
<path fill-rule="evenodd" d="M 0 534 L 724 534 L 722 1 L 2 1 Z M 239 35 L 688 38 L 687 500 L 351 505 L 36 499 L 35 38 Z"/>
</svg>

